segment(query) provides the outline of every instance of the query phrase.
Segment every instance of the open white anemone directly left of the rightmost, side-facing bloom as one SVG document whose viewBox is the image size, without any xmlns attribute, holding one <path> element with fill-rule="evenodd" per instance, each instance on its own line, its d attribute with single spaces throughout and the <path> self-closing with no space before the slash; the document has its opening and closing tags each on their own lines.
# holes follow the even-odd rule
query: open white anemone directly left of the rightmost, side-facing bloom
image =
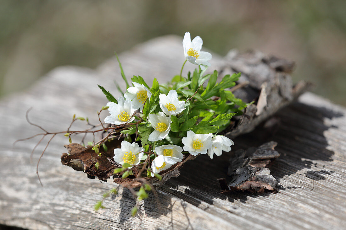
<svg viewBox="0 0 346 230">
<path fill-rule="evenodd" d="M 200 154 L 206 154 L 207 150 L 212 146 L 212 134 L 196 134 L 189 130 L 187 137 L 183 137 L 181 140 L 184 144 L 184 150 L 188 151 L 191 155 L 197 156 Z"/>
</svg>

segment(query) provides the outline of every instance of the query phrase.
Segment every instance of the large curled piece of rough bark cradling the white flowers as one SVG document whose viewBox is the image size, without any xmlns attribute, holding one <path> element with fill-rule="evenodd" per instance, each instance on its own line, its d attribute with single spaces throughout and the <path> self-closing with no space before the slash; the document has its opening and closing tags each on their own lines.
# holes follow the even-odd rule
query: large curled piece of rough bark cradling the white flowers
<svg viewBox="0 0 346 230">
<path fill-rule="evenodd" d="M 231 123 L 232 125 L 223 132 L 224 135 L 230 138 L 253 131 L 258 124 L 272 116 L 280 108 L 291 103 L 294 98 L 297 98 L 311 87 L 311 83 L 304 82 L 292 86 L 289 72 L 293 70 L 293 62 L 274 56 L 266 56 L 259 51 L 248 51 L 245 53 L 230 51 L 224 63 L 225 66 L 221 68 L 220 72 L 224 74 L 242 72 L 242 77 L 240 77 L 237 84 L 249 82 L 246 87 L 234 90 L 234 94 L 245 102 L 255 102 L 245 109 L 242 116 L 235 117 L 235 121 Z M 118 143 L 119 141 L 113 140 L 112 142 Z M 111 145 L 106 154 L 100 151 L 102 153 L 100 157 L 102 163 L 107 161 L 107 157 L 111 158 L 114 155 L 113 151 L 116 145 Z M 102 170 L 96 170 L 94 167 L 96 158 L 91 153 L 91 147 L 86 148 L 84 152 L 86 155 L 79 152 L 78 154 L 69 152 L 70 155 L 63 153 L 61 162 L 74 169 L 76 169 L 76 162 L 79 162 L 79 165 L 83 165 L 83 167 L 79 167 L 77 170 L 85 172 L 89 178 L 97 176 L 102 181 L 110 178 L 117 165 L 113 164 L 113 166 L 110 166 L 108 162 L 105 163 L 106 166 L 103 166 Z M 179 176 L 179 169 L 186 161 L 192 159 L 195 159 L 195 156 L 185 154 L 181 162 L 160 173 L 162 175 L 161 181 L 155 177 L 146 179 L 156 187 L 161 186 L 171 177 Z M 113 176 L 114 182 L 133 188 L 141 185 L 140 182 L 133 181 L 135 176 L 121 178 L 120 175 L 121 173 Z"/>
</svg>

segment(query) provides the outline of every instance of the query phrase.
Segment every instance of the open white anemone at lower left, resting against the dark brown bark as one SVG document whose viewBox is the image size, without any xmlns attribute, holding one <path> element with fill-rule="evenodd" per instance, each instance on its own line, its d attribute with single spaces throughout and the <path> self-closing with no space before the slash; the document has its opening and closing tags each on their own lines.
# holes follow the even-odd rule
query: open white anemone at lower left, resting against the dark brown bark
<svg viewBox="0 0 346 230">
<path fill-rule="evenodd" d="M 121 142 L 121 148 L 116 148 L 114 150 L 114 161 L 119 164 L 128 163 L 132 165 L 128 167 L 128 169 L 132 168 L 134 165 L 140 163 L 140 159 L 143 157 L 143 147 L 139 147 L 139 145 L 134 143 L 129 143 L 127 141 Z"/>
</svg>

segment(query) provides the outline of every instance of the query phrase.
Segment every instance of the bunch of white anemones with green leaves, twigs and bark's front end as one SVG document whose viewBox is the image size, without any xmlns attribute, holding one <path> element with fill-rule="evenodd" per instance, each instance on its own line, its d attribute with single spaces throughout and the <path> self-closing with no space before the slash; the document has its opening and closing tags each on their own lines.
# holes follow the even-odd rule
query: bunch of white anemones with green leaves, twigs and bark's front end
<svg viewBox="0 0 346 230">
<path fill-rule="evenodd" d="M 168 83 L 159 83 L 154 78 L 149 86 L 142 77 L 134 76 L 130 85 L 118 59 L 126 92 L 117 86 L 122 96 L 116 99 L 99 85 L 109 100 L 98 112 L 100 124 L 84 131 L 71 131 L 72 123 L 78 119 L 91 125 L 88 118 L 74 115 L 66 131 L 43 134 L 52 134 L 53 138 L 65 133 L 69 138 L 70 144 L 66 145 L 69 153 L 62 155 L 62 163 L 87 173 L 89 178 L 97 176 L 107 181 L 113 176 L 115 182 L 128 187 L 139 199 L 145 199 L 146 191 L 178 176 L 177 169 L 184 162 L 199 154 L 208 154 L 213 159 L 222 151 L 229 152 L 234 143 L 222 133 L 233 123 L 231 118 L 242 114 L 251 103 L 244 103 L 232 93 L 231 87 L 236 85 L 240 73 L 225 75 L 221 80 L 216 70 L 206 74 L 212 56 L 201 51 L 202 43 L 199 36 L 191 41 L 190 33 L 185 33 L 186 60 L 180 75 Z M 185 77 L 182 70 L 186 61 L 198 68 Z M 106 110 L 109 116 L 103 123 L 100 113 Z M 71 136 L 79 133 L 92 133 L 93 141 L 87 146 L 72 143 Z M 100 141 L 95 142 L 95 133 L 103 134 Z M 136 187 L 139 187 L 137 192 L 133 189 Z M 113 189 L 103 197 L 115 192 Z M 100 207 L 102 201 L 95 209 Z"/>
</svg>

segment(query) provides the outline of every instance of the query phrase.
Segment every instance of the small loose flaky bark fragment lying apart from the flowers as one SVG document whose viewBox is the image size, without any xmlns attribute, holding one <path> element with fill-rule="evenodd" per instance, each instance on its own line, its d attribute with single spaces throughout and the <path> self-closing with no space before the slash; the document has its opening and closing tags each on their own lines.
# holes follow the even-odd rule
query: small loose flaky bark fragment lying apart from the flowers
<svg viewBox="0 0 346 230">
<path fill-rule="evenodd" d="M 265 189 L 274 191 L 277 181 L 270 174 L 268 166 L 280 156 L 274 150 L 276 145 L 276 142 L 271 141 L 258 148 L 237 150 L 229 159 L 228 175 L 232 177 L 231 182 L 225 186 L 226 180 L 219 179 L 221 193 L 238 190 L 260 193 Z"/>
</svg>

